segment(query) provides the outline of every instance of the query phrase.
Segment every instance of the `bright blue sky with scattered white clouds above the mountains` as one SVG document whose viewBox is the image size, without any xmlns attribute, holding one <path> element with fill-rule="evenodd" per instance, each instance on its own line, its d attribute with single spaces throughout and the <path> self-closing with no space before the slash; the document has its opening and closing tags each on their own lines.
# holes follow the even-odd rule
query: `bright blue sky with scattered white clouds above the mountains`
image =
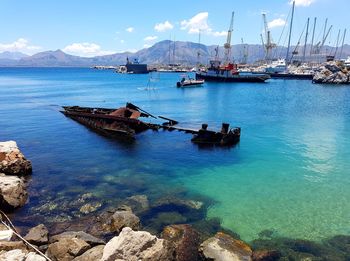
<svg viewBox="0 0 350 261">
<path fill-rule="evenodd" d="M 233 44 L 241 38 L 246 43 L 261 43 L 262 12 L 278 42 L 291 11 L 290 1 L 0 0 L 0 52 L 33 54 L 62 49 L 81 56 L 103 55 L 140 50 L 165 39 L 198 42 L 199 29 L 201 43 L 223 45 L 232 11 Z M 343 32 L 349 25 L 349 0 L 296 0 L 296 5 L 293 44 L 308 17 L 313 21 L 317 16 L 317 41 L 328 18 L 333 29 L 326 44 L 331 45 L 335 45 L 338 30 Z M 346 43 L 347 39 L 350 37 Z M 283 43 L 285 40 L 280 41 Z"/>
</svg>

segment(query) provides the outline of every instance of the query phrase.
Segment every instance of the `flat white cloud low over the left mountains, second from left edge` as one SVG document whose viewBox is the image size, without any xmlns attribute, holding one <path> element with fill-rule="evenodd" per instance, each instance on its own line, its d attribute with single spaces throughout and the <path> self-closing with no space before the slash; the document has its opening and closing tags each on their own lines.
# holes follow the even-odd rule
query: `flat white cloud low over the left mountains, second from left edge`
<svg viewBox="0 0 350 261">
<path fill-rule="evenodd" d="M 95 43 L 73 43 L 63 48 L 63 51 L 73 55 L 93 57 L 115 53 L 114 51 L 103 51 L 101 46 Z"/>
</svg>

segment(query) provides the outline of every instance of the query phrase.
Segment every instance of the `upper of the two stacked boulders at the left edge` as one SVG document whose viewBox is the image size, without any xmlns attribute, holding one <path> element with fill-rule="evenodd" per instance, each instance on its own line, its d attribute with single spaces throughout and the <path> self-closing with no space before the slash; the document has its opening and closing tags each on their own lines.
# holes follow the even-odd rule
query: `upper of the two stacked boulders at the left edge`
<svg viewBox="0 0 350 261">
<path fill-rule="evenodd" d="M 27 175 L 32 164 L 20 152 L 15 141 L 0 142 L 0 172 L 6 175 Z"/>
</svg>

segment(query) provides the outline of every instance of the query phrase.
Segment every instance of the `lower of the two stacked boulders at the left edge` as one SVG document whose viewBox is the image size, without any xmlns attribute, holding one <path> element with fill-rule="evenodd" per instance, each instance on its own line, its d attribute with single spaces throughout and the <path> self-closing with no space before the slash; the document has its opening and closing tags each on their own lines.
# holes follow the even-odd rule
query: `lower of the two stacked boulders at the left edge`
<svg viewBox="0 0 350 261">
<path fill-rule="evenodd" d="M 0 174 L 0 209 L 13 210 L 27 201 L 27 191 L 22 179 Z"/>
</svg>

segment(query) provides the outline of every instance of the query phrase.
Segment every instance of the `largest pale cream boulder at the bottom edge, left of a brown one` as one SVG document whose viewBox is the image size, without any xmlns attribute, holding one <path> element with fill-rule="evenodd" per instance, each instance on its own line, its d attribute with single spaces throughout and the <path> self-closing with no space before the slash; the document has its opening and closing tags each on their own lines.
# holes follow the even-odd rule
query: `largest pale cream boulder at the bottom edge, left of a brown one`
<svg viewBox="0 0 350 261">
<path fill-rule="evenodd" d="M 119 236 L 112 238 L 103 249 L 101 261 L 171 261 L 173 250 L 164 239 L 145 231 L 123 228 Z"/>
</svg>

